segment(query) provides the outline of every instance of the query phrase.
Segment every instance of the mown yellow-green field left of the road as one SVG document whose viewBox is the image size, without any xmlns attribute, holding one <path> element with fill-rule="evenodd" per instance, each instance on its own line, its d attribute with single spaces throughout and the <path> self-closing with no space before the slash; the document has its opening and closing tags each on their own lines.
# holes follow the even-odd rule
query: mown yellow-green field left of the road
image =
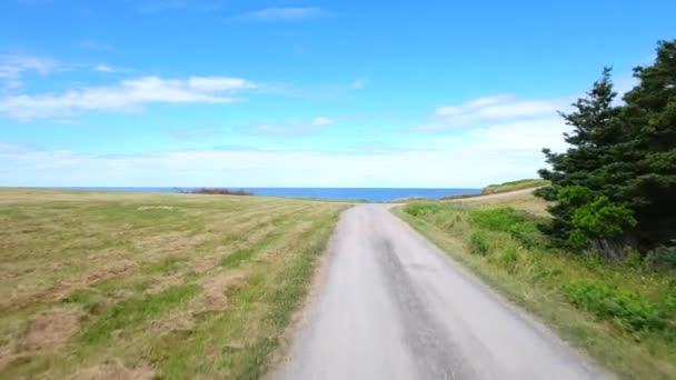
<svg viewBox="0 0 676 380">
<path fill-rule="evenodd" d="M 0 378 L 258 378 L 346 207 L 0 190 Z"/>
</svg>

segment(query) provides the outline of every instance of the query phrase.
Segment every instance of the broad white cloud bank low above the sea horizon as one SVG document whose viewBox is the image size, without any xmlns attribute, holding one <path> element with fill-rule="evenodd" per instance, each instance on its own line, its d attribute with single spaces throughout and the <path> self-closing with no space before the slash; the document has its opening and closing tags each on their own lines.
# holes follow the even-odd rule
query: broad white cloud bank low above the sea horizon
<svg viewBox="0 0 676 380">
<path fill-rule="evenodd" d="M 298 136 L 326 126 L 326 119 L 259 124 L 250 131 Z M 481 187 L 537 176 L 546 166 L 540 149 L 565 149 L 561 133 L 567 128 L 556 118 L 538 118 L 460 134 L 396 137 L 388 131 L 370 136 L 387 136 L 378 139 L 385 149 L 354 149 L 365 138 L 356 136 L 330 151 L 238 147 L 95 156 L 0 144 L 0 162 L 6 163 L 0 166 L 0 186 Z M 189 132 L 205 133 L 200 139 L 215 133 Z"/>
</svg>

